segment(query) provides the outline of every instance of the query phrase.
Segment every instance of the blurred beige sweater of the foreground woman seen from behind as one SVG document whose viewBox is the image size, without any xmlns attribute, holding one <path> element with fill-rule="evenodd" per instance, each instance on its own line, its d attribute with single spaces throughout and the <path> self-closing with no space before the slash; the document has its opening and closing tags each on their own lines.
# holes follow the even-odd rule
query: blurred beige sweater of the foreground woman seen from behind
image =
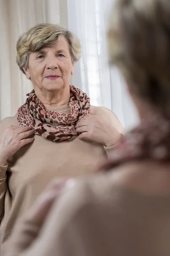
<svg viewBox="0 0 170 256">
<path fill-rule="evenodd" d="M 5 256 L 170 256 L 170 194 L 146 195 L 115 178 L 65 190 L 41 229 L 19 224 Z"/>
</svg>

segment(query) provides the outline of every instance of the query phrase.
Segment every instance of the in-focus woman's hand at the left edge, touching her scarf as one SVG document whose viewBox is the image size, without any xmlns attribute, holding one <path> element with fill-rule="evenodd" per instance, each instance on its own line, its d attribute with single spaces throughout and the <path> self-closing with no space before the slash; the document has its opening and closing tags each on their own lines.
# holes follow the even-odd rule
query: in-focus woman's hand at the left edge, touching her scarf
<svg viewBox="0 0 170 256">
<path fill-rule="evenodd" d="M 8 157 L 11 157 L 24 145 L 33 142 L 34 138 L 27 138 L 32 134 L 34 134 L 32 127 L 13 125 L 0 132 L 0 164 L 5 165 Z"/>
</svg>

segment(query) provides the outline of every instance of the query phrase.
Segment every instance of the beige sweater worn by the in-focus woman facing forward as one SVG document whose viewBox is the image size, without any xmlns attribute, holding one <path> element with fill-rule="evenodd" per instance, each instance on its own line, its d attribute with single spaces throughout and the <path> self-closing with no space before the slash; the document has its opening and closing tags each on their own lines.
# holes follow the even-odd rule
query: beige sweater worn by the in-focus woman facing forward
<svg viewBox="0 0 170 256">
<path fill-rule="evenodd" d="M 69 113 L 68 105 L 51 110 Z M 91 107 L 91 114 L 103 117 L 120 133 L 124 133 L 124 128 L 108 109 Z M 4 119 L 0 123 L 0 132 L 9 125 L 18 125 L 17 116 Z M 36 135 L 34 143 L 25 145 L 8 159 L 8 166 L 0 166 L 1 255 L 3 249 L 8 246 L 14 225 L 50 180 L 94 172 L 96 163 L 112 154 L 113 148 L 85 142 L 79 138 L 54 143 Z"/>
</svg>

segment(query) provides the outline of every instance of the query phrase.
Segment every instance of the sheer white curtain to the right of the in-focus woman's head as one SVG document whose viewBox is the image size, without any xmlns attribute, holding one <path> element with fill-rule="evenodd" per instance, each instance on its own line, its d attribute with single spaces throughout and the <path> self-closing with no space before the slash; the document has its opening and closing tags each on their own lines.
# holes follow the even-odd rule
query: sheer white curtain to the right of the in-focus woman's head
<svg viewBox="0 0 170 256">
<path fill-rule="evenodd" d="M 88 93 L 92 105 L 111 109 L 128 130 L 139 119 L 125 81 L 109 65 L 106 35 L 112 4 L 113 0 L 68 0 L 68 28 L 82 44 L 72 83 Z"/>
</svg>

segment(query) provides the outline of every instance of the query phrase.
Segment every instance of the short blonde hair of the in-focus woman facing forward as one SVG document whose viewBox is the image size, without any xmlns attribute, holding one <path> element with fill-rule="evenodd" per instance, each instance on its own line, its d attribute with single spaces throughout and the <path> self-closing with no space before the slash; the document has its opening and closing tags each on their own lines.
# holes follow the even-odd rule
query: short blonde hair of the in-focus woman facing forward
<svg viewBox="0 0 170 256">
<path fill-rule="evenodd" d="M 22 34 L 17 41 L 16 61 L 20 70 L 25 74 L 23 67 L 28 68 L 31 52 L 36 52 L 45 46 L 55 46 L 61 36 L 64 36 L 68 42 L 72 62 L 77 62 L 81 55 L 81 45 L 77 36 L 65 30 L 63 26 L 41 23 Z"/>
</svg>

